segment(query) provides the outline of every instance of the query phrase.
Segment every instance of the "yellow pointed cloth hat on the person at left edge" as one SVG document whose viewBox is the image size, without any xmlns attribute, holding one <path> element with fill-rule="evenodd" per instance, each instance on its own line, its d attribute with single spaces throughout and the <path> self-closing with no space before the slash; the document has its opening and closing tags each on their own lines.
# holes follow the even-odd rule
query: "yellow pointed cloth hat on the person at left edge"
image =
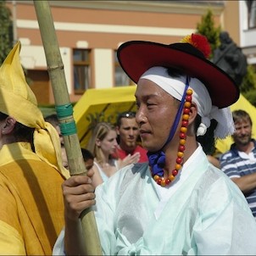
<svg viewBox="0 0 256 256">
<path fill-rule="evenodd" d="M 17 42 L 0 68 L 0 111 L 13 116 L 23 125 L 35 127 L 34 114 L 30 116 L 28 111 L 41 117 L 39 120 L 43 117 L 37 108 L 36 97 L 25 81 L 19 51 L 20 42 Z"/>
</svg>

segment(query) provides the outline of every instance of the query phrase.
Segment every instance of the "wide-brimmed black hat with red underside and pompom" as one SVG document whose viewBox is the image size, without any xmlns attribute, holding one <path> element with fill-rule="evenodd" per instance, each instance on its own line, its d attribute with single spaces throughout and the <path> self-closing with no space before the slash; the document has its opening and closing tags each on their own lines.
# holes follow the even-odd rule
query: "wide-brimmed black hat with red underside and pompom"
<svg viewBox="0 0 256 256">
<path fill-rule="evenodd" d="M 187 75 L 198 78 L 209 91 L 213 105 L 220 109 L 237 102 L 239 89 L 235 81 L 209 61 L 198 45 L 205 36 L 192 34 L 195 42 L 177 42 L 165 45 L 158 42 L 130 41 L 123 43 L 117 52 L 120 65 L 135 83 L 142 74 L 154 66 L 175 67 Z M 208 43 L 209 44 L 209 43 Z"/>
</svg>

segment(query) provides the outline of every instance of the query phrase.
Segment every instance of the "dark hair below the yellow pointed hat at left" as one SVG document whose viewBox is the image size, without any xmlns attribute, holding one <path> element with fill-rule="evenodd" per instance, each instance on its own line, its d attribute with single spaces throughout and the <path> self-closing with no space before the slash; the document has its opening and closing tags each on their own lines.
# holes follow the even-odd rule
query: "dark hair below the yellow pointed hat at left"
<svg viewBox="0 0 256 256">
<path fill-rule="evenodd" d="M 0 112 L 0 120 L 6 120 L 8 118 L 8 114 L 3 114 Z M 15 137 L 16 142 L 30 142 L 31 147 L 34 150 L 34 143 L 33 143 L 33 134 L 35 128 L 31 128 L 25 125 L 16 122 L 14 125 L 13 135 Z"/>
</svg>

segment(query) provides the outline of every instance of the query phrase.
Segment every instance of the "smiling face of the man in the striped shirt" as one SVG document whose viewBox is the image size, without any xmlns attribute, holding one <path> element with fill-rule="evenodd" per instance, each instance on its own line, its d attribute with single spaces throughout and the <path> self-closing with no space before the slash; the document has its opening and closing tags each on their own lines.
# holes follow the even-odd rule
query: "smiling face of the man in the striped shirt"
<svg viewBox="0 0 256 256">
<path fill-rule="evenodd" d="M 251 141 L 252 125 L 248 120 L 242 120 L 235 123 L 236 131 L 233 134 L 233 140 L 237 145 L 246 146 Z"/>
</svg>

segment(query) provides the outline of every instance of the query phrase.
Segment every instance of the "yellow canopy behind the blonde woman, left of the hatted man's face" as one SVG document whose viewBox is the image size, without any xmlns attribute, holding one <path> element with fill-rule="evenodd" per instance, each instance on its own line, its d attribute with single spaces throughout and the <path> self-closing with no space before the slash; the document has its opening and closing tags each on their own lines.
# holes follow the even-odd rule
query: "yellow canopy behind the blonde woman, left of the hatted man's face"
<svg viewBox="0 0 256 256">
<path fill-rule="evenodd" d="M 123 111 L 135 111 L 136 86 L 88 89 L 74 106 L 74 119 L 81 147 L 86 147 L 99 121 L 115 124 Z"/>
</svg>

